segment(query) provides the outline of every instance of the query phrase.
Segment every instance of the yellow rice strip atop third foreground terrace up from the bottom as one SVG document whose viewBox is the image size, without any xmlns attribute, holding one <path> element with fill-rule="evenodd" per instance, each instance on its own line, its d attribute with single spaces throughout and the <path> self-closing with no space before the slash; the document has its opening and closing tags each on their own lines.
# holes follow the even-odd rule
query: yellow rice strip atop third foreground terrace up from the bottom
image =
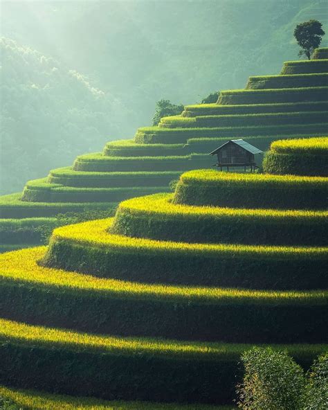
<svg viewBox="0 0 328 410">
<path fill-rule="evenodd" d="M 199 303 L 327 303 L 328 292 L 316 291 L 270 291 L 249 289 L 227 289 L 219 287 L 192 287 L 173 285 L 152 285 L 124 280 L 97 278 L 73 271 L 41 267 L 37 260 L 44 255 L 45 247 L 22 249 L 0 255 L 0 281 L 31 283 L 62 287 L 72 292 L 92 292 L 101 297 L 138 298 L 156 301 L 198 301 Z"/>
</svg>

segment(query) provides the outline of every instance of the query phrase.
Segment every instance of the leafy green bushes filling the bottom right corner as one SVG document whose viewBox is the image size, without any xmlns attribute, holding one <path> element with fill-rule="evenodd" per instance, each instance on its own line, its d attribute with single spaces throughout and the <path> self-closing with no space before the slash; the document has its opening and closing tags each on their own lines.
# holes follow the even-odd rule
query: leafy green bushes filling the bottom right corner
<svg viewBox="0 0 328 410">
<path fill-rule="evenodd" d="M 328 353 L 306 375 L 286 350 L 255 347 L 242 355 L 244 381 L 237 386 L 244 410 L 325 410 L 328 404 Z"/>
</svg>

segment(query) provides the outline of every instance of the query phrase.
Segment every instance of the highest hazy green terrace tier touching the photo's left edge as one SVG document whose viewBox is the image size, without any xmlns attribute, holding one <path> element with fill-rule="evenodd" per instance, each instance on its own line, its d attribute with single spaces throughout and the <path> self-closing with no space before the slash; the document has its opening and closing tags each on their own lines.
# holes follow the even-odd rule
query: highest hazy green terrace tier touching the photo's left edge
<svg viewBox="0 0 328 410">
<path fill-rule="evenodd" d="M 117 202 L 84 202 L 74 203 L 47 203 L 47 202 L 24 202 L 21 201 L 21 193 L 3 195 L 0 197 L 1 218 L 29 218 L 29 217 L 53 217 L 58 213 L 84 212 L 88 210 L 106 210 L 116 208 Z"/>
</svg>

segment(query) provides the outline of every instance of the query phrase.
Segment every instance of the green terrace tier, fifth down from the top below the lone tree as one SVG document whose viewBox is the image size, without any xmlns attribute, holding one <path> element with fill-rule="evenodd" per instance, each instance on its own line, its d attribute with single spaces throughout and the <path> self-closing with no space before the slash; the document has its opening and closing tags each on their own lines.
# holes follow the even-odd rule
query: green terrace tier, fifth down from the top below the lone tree
<svg viewBox="0 0 328 410">
<path fill-rule="evenodd" d="M 205 105 L 205 107 L 204 107 Z M 205 115 L 232 115 L 232 114 L 264 114 L 275 112 L 309 112 L 327 111 L 327 101 L 309 101 L 305 103 L 276 103 L 276 104 L 240 104 L 219 105 L 199 104 L 187 105 L 182 116 L 196 117 Z"/>
</svg>

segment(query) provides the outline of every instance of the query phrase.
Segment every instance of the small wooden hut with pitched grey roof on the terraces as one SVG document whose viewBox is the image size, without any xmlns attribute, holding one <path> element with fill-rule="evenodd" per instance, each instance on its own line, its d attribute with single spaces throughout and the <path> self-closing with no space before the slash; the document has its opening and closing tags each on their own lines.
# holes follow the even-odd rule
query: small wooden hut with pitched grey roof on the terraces
<svg viewBox="0 0 328 410">
<path fill-rule="evenodd" d="M 255 154 L 261 154 L 258 148 L 246 143 L 243 139 L 232 139 L 221 147 L 210 152 L 210 155 L 217 155 L 215 166 L 220 168 L 226 167 L 227 170 L 235 167 L 250 167 L 250 171 L 255 170 L 258 166 L 255 163 Z"/>
</svg>

